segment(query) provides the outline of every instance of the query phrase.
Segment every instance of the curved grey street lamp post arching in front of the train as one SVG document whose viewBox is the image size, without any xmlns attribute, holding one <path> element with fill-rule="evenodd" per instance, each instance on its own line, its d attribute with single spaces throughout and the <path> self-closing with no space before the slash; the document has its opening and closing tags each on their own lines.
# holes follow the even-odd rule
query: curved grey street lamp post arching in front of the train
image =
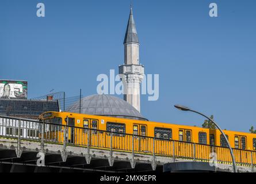
<svg viewBox="0 0 256 184">
<path fill-rule="evenodd" d="M 230 142 L 228 141 L 227 139 L 227 136 L 224 134 L 224 132 L 221 130 L 221 128 L 219 127 L 219 125 L 216 124 L 215 121 L 213 121 L 211 118 L 205 116 L 204 114 L 200 113 L 200 112 L 197 112 L 196 110 L 192 110 L 186 106 L 182 106 L 182 105 L 174 105 L 175 108 L 179 109 L 179 110 L 183 110 L 183 111 L 190 111 L 190 112 L 194 112 L 194 113 L 197 113 L 197 114 L 200 114 L 201 116 L 204 116 L 205 118 L 207 118 L 208 120 L 210 120 L 213 124 L 215 124 L 215 126 L 219 129 L 219 131 L 222 133 L 222 135 L 224 136 L 224 139 L 226 140 L 227 144 L 228 144 L 228 148 L 230 149 L 230 154 L 231 154 L 231 157 L 232 157 L 232 162 L 233 162 L 233 168 L 234 168 L 234 173 L 237 173 L 238 170 L 236 168 L 236 163 L 235 163 L 235 157 L 234 157 L 234 154 L 233 154 L 233 151 L 232 151 L 232 148 L 230 146 Z"/>
</svg>

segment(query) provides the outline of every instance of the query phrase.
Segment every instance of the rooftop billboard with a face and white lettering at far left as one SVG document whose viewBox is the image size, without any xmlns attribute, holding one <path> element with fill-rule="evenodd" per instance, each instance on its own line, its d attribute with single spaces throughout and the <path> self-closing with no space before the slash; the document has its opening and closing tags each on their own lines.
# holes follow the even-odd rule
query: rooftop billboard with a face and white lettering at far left
<svg viewBox="0 0 256 184">
<path fill-rule="evenodd" d="M 28 82 L 0 80 L 0 98 L 27 99 Z"/>
</svg>

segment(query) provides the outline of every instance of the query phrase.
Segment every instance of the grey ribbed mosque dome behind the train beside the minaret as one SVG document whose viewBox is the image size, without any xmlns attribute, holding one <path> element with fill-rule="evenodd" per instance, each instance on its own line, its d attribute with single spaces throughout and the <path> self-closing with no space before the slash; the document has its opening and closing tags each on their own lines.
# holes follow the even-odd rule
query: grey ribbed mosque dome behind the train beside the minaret
<svg viewBox="0 0 256 184">
<path fill-rule="evenodd" d="M 79 103 L 67 109 L 67 112 L 79 113 Z M 132 105 L 123 99 L 112 95 L 90 95 L 81 99 L 81 113 L 98 116 L 111 116 L 120 118 L 129 118 L 135 120 L 147 120 Z"/>
</svg>

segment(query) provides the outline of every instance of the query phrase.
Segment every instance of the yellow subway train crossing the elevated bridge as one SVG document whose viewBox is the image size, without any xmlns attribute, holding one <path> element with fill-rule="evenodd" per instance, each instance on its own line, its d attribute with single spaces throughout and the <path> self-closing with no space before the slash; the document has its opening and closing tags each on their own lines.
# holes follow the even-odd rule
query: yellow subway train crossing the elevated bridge
<svg viewBox="0 0 256 184">
<path fill-rule="evenodd" d="M 70 112 L 46 112 L 39 119 L 45 122 L 40 135 L 57 143 L 206 161 L 215 152 L 219 162 L 232 161 L 217 129 Z M 256 164 L 256 134 L 224 133 L 237 163 Z"/>
</svg>

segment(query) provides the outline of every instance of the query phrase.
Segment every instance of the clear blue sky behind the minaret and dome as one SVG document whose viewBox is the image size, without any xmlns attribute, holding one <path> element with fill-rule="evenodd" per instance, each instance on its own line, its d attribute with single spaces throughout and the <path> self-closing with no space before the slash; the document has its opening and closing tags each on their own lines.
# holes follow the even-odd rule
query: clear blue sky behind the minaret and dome
<svg viewBox="0 0 256 184">
<path fill-rule="evenodd" d="M 45 4 L 44 18 L 36 4 Z M 219 17 L 208 15 L 216 2 Z M 97 93 L 98 74 L 118 72 L 131 1 L 1 0 L 0 78 L 28 81 L 28 97 L 50 90 Z M 256 127 L 256 1 L 133 0 L 146 74 L 159 74 L 159 99 L 142 96 L 150 120 L 201 126 L 213 114 L 224 129 Z"/>
</svg>

